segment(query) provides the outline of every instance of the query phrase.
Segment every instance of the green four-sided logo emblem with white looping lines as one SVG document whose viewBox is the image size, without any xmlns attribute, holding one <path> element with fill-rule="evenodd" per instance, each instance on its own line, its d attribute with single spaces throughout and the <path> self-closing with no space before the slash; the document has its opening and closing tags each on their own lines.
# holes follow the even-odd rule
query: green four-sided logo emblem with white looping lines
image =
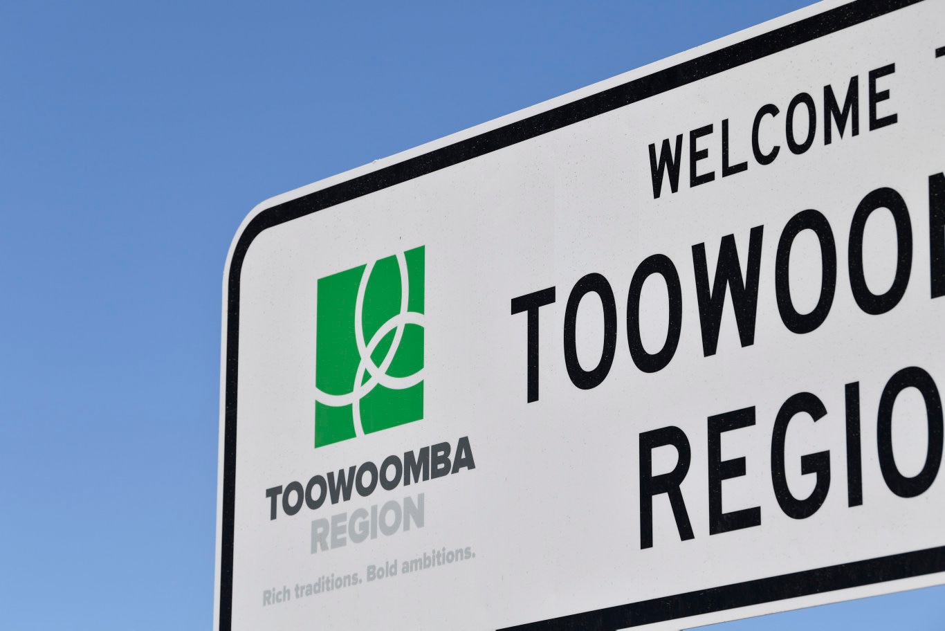
<svg viewBox="0 0 945 631">
<path fill-rule="evenodd" d="M 315 446 L 423 418 L 423 247 L 318 279 Z"/>
</svg>

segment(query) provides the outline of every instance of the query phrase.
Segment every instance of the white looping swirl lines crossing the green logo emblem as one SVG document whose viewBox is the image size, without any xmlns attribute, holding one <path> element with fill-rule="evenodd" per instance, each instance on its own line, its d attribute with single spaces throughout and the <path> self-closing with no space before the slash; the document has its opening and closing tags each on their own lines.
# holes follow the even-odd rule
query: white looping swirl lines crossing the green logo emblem
<svg viewBox="0 0 945 631">
<path fill-rule="evenodd" d="M 364 273 L 361 275 L 361 281 L 357 288 L 357 299 L 354 302 L 354 339 L 357 343 L 360 361 L 354 374 L 352 391 L 348 394 L 333 395 L 319 390 L 318 387 L 316 387 L 316 401 L 331 407 L 340 407 L 342 405 L 352 406 L 354 434 L 359 436 L 364 435 L 364 427 L 361 424 L 361 399 L 363 397 L 367 396 L 378 384 L 391 390 L 403 390 L 404 388 L 420 384 L 423 379 L 422 367 L 412 375 L 405 377 L 392 377 L 387 374 L 387 368 L 389 368 L 391 362 L 394 361 L 394 357 L 397 355 L 397 349 L 400 348 L 401 345 L 401 339 L 404 337 L 404 327 L 408 324 L 423 326 L 423 314 L 418 314 L 415 311 L 407 311 L 407 302 L 410 298 L 410 281 L 407 277 L 407 262 L 404 258 L 404 253 L 398 253 L 396 259 L 397 269 L 401 277 L 400 313 L 394 315 L 381 325 L 381 328 L 371 336 L 367 344 L 364 340 L 364 295 L 368 289 L 368 281 L 370 279 L 370 273 L 374 269 L 374 263 L 369 263 L 365 267 Z M 394 339 L 390 343 L 390 348 L 387 350 L 387 355 L 385 355 L 384 361 L 381 362 L 381 366 L 377 366 L 374 364 L 374 360 L 371 359 L 371 353 L 377 349 L 381 340 L 383 340 L 385 335 L 390 333 L 391 330 L 394 330 Z M 370 378 L 367 382 L 362 384 L 361 380 L 364 378 L 365 371 L 369 373 Z"/>
</svg>

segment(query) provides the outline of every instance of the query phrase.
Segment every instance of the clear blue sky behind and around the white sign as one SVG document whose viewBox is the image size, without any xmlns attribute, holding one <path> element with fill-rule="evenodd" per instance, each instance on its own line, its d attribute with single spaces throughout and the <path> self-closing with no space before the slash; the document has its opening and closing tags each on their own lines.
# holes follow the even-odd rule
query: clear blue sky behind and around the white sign
<svg viewBox="0 0 945 631">
<path fill-rule="evenodd" d="M 0 629 L 211 627 L 255 204 L 806 4 L 2 3 Z M 800 625 L 942 629 L 945 590 L 713 629 Z"/>
</svg>

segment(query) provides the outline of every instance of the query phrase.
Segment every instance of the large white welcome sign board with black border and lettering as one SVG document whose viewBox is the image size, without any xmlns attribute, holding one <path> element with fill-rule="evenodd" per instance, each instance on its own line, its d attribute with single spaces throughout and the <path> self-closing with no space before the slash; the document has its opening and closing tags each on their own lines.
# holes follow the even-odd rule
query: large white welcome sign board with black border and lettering
<svg viewBox="0 0 945 631">
<path fill-rule="evenodd" d="M 943 19 L 821 4 L 253 211 L 215 628 L 945 582 Z"/>
</svg>

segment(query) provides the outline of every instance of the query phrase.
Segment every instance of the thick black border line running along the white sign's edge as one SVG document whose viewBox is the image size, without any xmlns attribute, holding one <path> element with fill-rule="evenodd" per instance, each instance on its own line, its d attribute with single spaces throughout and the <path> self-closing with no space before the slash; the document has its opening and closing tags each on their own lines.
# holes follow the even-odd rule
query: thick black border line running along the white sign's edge
<svg viewBox="0 0 945 631">
<path fill-rule="evenodd" d="M 223 438 L 223 512 L 220 523 L 219 631 L 232 631 L 233 537 L 236 487 L 236 394 L 239 358 L 240 274 L 249 245 L 263 230 L 380 191 L 409 179 L 466 162 L 599 114 L 663 94 L 699 79 L 761 60 L 801 43 L 856 26 L 922 0 L 855 0 L 798 22 L 781 26 L 693 60 L 664 68 L 549 111 L 491 129 L 453 145 L 343 181 L 283 202 L 253 217 L 232 251 L 227 279 L 225 420 Z M 945 546 L 895 554 L 782 576 L 708 588 L 662 598 L 597 609 L 552 620 L 508 627 L 528 631 L 610 630 L 687 618 L 734 607 L 945 571 Z"/>
</svg>

